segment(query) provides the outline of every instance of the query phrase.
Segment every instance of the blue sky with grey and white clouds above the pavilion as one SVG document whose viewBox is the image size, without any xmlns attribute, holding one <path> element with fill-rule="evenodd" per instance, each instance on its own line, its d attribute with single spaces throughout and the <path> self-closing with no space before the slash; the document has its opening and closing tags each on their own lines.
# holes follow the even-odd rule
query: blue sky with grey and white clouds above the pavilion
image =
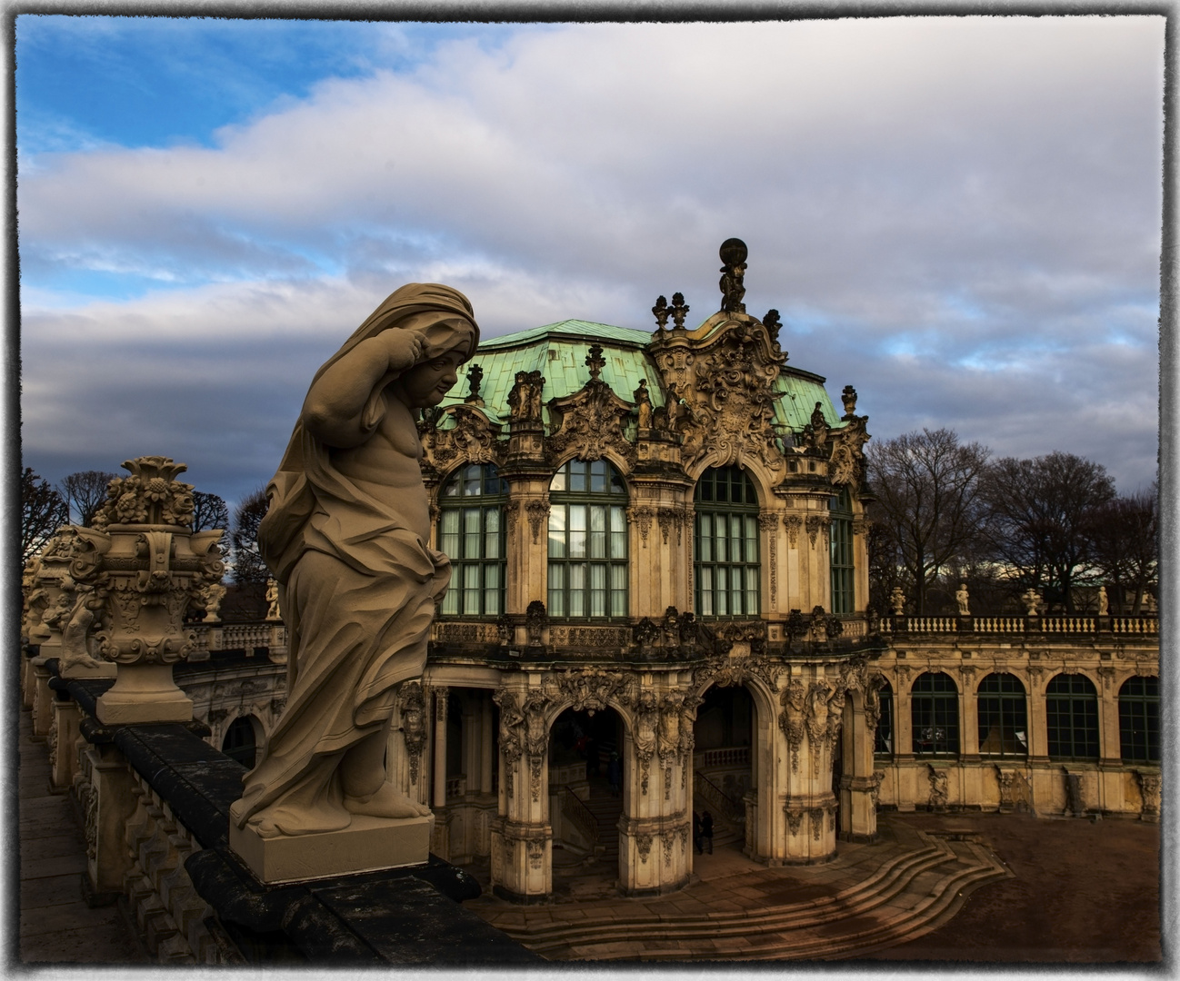
<svg viewBox="0 0 1180 981">
<path fill-rule="evenodd" d="M 231 502 L 393 289 L 485 336 L 750 312 L 870 432 L 1155 475 L 1162 17 L 17 18 L 25 463 Z M 870 445 L 871 447 L 871 445 Z"/>
</svg>

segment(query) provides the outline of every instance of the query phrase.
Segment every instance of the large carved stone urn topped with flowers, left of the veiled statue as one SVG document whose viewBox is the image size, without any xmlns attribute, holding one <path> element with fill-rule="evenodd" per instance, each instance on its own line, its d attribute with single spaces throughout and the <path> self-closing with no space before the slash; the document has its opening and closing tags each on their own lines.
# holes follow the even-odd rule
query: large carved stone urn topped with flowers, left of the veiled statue
<svg viewBox="0 0 1180 981">
<path fill-rule="evenodd" d="M 183 463 L 139 456 L 123 467 L 131 475 L 111 481 L 94 526 L 73 529 L 71 574 L 93 591 L 98 651 L 118 666 L 96 716 L 104 725 L 188 722 L 192 700 L 172 665 L 196 645 L 186 611 L 203 610 L 205 587 L 221 580 L 223 531 L 192 533 L 192 485 L 176 480 Z"/>
</svg>

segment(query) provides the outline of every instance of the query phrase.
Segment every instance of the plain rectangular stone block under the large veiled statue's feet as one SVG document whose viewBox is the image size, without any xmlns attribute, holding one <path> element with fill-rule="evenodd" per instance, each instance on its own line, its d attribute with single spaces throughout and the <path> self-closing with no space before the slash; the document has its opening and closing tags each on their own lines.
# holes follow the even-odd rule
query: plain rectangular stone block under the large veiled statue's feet
<svg viewBox="0 0 1180 981">
<path fill-rule="evenodd" d="M 263 838 L 247 825 L 229 825 L 229 847 L 262 882 L 372 873 L 421 865 L 430 858 L 434 816 L 368 817 L 353 815 L 341 831 Z"/>
</svg>

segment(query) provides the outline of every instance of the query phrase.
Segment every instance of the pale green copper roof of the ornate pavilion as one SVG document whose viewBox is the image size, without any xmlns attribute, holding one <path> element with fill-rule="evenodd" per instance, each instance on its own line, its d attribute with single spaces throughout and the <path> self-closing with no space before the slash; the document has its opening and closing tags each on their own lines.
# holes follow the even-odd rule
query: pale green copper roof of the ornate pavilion
<svg viewBox="0 0 1180 981">
<path fill-rule="evenodd" d="M 651 335 L 644 330 L 576 320 L 493 337 L 481 342 L 476 356 L 459 368 L 459 383 L 451 389 L 442 406 L 464 401 L 470 390 L 466 371 L 472 364 L 478 364 L 484 369 L 479 387 L 484 412 L 493 422 L 506 423 L 509 391 L 516 383 L 517 371 L 540 371 L 545 378 L 542 390 L 542 401 L 545 403 L 550 399 L 572 395 L 590 380 L 585 358 L 590 345 L 598 343 L 602 344 L 607 362 L 601 378 L 628 402 L 634 401 L 640 378 L 647 378 L 651 404 L 658 408 L 663 406 L 664 397 L 660 388 L 660 373 L 644 350 L 650 341 Z M 788 366 L 780 373 L 775 389 L 782 391 L 784 396 L 775 401 L 774 421 L 784 429 L 789 428 L 796 433 L 802 429 L 811 422 L 817 402 L 820 403 L 828 426 L 843 426 L 820 375 Z M 544 409 L 544 421 L 546 424 L 551 421 L 548 406 Z"/>
</svg>

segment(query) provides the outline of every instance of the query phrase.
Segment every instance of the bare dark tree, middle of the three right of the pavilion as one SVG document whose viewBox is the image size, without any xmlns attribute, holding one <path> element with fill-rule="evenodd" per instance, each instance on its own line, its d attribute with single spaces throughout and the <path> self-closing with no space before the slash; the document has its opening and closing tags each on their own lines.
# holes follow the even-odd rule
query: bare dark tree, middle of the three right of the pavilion
<svg viewBox="0 0 1180 981">
<path fill-rule="evenodd" d="M 1071 453 L 1007 456 L 988 468 L 984 496 L 1011 591 L 1043 590 L 1050 607 L 1073 613 L 1074 587 L 1089 581 L 1097 509 L 1114 499 L 1106 468 Z"/>
</svg>

